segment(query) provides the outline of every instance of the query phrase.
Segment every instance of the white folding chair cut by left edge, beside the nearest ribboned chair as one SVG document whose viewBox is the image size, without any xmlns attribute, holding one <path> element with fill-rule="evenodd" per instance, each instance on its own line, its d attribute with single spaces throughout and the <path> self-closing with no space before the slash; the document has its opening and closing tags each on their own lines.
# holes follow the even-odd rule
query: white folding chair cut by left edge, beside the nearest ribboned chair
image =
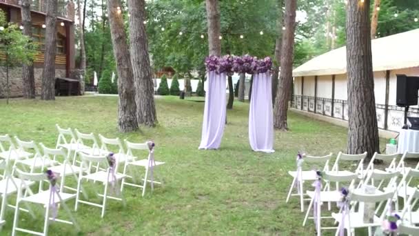
<svg viewBox="0 0 419 236">
<path fill-rule="evenodd" d="M 1 208 L 0 208 L 0 230 L 1 227 L 6 223 L 4 215 L 6 213 L 6 207 L 15 208 L 14 205 L 8 205 L 8 196 L 17 193 L 18 186 L 21 185 L 21 179 L 15 178 L 10 175 L 11 170 L 6 160 L 0 161 L 0 170 L 4 170 L 4 177 L 0 180 L 0 195 L 1 195 Z M 25 181 L 24 186 L 32 186 L 34 181 Z M 28 210 L 26 210 L 28 211 Z"/>
</svg>

